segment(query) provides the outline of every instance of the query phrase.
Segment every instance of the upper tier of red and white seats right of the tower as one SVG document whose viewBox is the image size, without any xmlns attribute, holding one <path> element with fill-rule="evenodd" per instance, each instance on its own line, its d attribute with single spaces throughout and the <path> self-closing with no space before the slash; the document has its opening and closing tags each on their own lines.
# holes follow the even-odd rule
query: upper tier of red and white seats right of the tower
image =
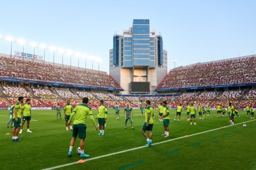
<svg viewBox="0 0 256 170">
<path fill-rule="evenodd" d="M 216 86 L 256 82 L 256 57 L 242 57 L 178 67 L 156 89 Z"/>
</svg>

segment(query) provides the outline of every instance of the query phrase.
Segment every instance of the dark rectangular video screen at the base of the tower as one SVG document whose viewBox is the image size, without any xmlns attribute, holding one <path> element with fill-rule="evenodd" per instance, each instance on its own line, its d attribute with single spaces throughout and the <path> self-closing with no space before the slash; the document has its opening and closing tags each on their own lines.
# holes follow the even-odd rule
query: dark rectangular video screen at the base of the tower
<svg viewBox="0 0 256 170">
<path fill-rule="evenodd" d="M 150 82 L 131 82 L 132 94 L 150 94 Z"/>
</svg>

